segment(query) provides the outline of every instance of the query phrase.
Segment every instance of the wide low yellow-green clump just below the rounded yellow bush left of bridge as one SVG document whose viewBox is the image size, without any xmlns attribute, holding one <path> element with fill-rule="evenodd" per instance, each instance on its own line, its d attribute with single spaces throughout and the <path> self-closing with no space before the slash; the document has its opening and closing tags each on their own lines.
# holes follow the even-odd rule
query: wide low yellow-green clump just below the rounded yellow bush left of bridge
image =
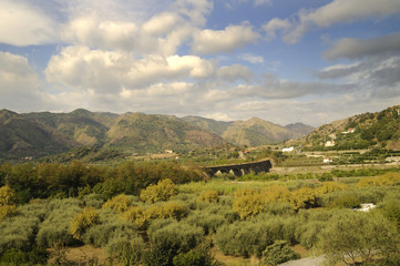
<svg viewBox="0 0 400 266">
<path fill-rule="evenodd" d="M 143 207 L 130 207 L 121 214 L 123 221 L 134 223 L 140 229 L 146 229 L 150 222 L 157 218 L 182 219 L 187 215 L 187 208 L 178 203 L 167 202 L 163 205 L 152 204 L 146 209 Z"/>
</svg>

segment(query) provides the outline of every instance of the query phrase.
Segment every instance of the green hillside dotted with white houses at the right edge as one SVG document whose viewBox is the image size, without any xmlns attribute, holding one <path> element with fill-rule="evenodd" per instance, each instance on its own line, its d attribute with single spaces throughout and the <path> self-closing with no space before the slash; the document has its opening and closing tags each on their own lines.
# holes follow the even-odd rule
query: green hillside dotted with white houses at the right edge
<svg viewBox="0 0 400 266">
<path fill-rule="evenodd" d="M 305 139 L 308 149 L 400 150 L 400 105 L 363 113 L 319 126 Z"/>
</svg>

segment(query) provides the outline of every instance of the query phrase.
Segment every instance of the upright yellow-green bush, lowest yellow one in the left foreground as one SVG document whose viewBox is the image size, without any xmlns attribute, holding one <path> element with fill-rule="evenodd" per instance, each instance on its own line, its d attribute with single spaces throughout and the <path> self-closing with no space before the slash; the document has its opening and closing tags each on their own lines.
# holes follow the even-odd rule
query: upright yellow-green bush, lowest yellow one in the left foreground
<svg viewBox="0 0 400 266">
<path fill-rule="evenodd" d="M 70 234 L 75 239 L 81 239 L 83 233 L 90 226 L 99 222 L 99 212 L 94 208 L 84 208 L 81 213 L 76 214 L 71 222 Z"/>
</svg>

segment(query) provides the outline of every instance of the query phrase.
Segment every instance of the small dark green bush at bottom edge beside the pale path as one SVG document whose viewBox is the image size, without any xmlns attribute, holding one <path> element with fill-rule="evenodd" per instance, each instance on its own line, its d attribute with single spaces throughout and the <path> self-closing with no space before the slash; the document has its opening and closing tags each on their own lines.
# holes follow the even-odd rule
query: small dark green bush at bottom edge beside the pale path
<svg viewBox="0 0 400 266">
<path fill-rule="evenodd" d="M 276 266 L 291 259 L 300 258 L 300 255 L 293 252 L 286 241 L 276 241 L 263 252 L 264 263 Z"/>
</svg>

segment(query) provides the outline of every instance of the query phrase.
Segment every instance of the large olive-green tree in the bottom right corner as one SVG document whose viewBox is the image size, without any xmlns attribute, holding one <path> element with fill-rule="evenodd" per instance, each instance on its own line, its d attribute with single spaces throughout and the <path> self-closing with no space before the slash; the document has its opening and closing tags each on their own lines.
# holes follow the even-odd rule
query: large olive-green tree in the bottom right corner
<svg viewBox="0 0 400 266">
<path fill-rule="evenodd" d="M 381 258 L 398 265 L 399 233 L 393 223 L 378 213 L 348 211 L 339 213 L 321 232 L 318 246 L 330 265 L 355 265 L 360 257 L 370 264 Z"/>
</svg>

